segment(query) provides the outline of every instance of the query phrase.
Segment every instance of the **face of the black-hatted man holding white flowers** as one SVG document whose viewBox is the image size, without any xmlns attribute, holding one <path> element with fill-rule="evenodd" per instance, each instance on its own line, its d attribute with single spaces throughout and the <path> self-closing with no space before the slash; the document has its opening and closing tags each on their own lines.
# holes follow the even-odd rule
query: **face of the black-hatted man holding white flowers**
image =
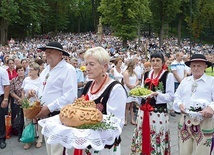
<svg viewBox="0 0 214 155">
<path fill-rule="evenodd" d="M 207 65 L 206 65 L 206 62 L 196 61 L 196 62 L 190 63 L 190 68 L 191 68 L 193 77 L 198 79 L 204 74 L 204 71 L 206 70 Z"/>
</svg>

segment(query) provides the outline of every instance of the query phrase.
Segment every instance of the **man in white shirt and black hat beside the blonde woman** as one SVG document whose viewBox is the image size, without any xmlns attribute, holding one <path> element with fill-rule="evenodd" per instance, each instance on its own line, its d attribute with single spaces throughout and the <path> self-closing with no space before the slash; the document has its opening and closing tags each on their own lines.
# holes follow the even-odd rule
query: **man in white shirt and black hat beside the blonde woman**
<svg viewBox="0 0 214 155">
<path fill-rule="evenodd" d="M 44 104 L 36 117 L 42 119 L 59 114 L 62 107 L 77 98 L 77 78 L 75 68 L 63 59 L 63 56 L 69 54 L 63 50 L 60 43 L 50 42 L 39 49 L 45 51 L 48 64 L 40 74 L 38 96 Z M 29 95 L 33 96 L 34 92 L 29 92 Z M 46 144 L 46 149 L 48 155 L 63 154 L 63 146 L 60 144 Z"/>
</svg>

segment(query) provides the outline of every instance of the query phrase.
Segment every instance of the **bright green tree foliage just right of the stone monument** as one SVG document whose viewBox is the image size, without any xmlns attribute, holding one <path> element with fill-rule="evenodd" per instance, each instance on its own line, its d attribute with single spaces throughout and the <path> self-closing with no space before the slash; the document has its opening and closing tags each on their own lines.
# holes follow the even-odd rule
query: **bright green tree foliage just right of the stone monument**
<svg viewBox="0 0 214 155">
<path fill-rule="evenodd" d="M 101 0 L 98 10 L 102 22 L 111 25 L 114 35 L 125 41 L 135 39 L 138 22 L 151 15 L 147 0 Z"/>
</svg>

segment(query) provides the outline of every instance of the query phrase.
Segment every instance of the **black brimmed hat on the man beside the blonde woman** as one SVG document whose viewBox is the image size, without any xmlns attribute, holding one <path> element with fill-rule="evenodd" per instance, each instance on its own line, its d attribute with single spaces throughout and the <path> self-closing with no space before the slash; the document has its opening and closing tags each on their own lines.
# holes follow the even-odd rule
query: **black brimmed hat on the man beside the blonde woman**
<svg viewBox="0 0 214 155">
<path fill-rule="evenodd" d="M 39 47 L 38 49 L 40 49 L 42 51 L 45 51 L 46 49 L 55 49 L 55 50 L 58 50 L 58 51 L 62 52 L 62 54 L 65 55 L 65 56 L 70 56 L 68 52 L 65 52 L 63 50 L 63 47 L 59 42 L 50 42 L 46 46 Z"/>
</svg>

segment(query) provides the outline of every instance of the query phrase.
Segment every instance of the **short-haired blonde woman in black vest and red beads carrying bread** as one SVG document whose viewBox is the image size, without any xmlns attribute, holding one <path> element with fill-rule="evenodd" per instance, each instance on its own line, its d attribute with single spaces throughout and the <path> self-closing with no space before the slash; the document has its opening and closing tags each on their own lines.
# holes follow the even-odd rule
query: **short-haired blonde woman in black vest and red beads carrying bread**
<svg viewBox="0 0 214 155">
<path fill-rule="evenodd" d="M 103 114 L 113 114 L 119 118 L 122 128 L 127 96 L 123 86 L 107 74 L 110 62 L 108 52 L 102 47 L 90 48 L 85 52 L 84 59 L 86 73 L 90 81 L 85 85 L 83 95 L 89 100 L 93 100 Z M 121 155 L 120 142 L 121 138 L 118 137 L 113 144 L 105 145 L 104 149 L 100 151 L 93 148 L 84 151 L 91 155 Z"/>
</svg>

